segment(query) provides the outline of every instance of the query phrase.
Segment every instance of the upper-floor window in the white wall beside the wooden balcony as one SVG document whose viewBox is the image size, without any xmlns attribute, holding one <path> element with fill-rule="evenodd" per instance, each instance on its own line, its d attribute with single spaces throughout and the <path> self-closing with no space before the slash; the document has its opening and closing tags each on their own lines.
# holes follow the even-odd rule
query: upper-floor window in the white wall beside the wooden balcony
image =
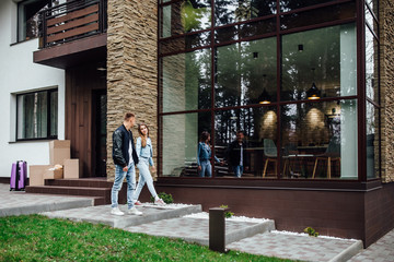
<svg viewBox="0 0 394 262">
<path fill-rule="evenodd" d="M 18 41 L 38 37 L 38 13 L 54 0 L 27 0 L 18 4 Z"/>
</svg>

